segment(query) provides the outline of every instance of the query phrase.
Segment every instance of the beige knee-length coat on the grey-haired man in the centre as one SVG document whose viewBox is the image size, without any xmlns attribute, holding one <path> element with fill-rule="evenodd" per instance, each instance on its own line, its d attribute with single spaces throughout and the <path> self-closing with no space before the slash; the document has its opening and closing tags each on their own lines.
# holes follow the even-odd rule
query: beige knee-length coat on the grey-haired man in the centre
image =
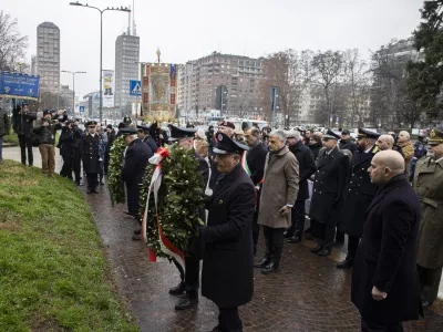
<svg viewBox="0 0 443 332">
<path fill-rule="evenodd" d="M 298 162 L 285 146 L 269 162 L 266 156 L 265 181 L 261 189 L 258 224 L 271 228 L 286 228 L 291 225 L 291 214 L 280 216 L 279 210 L 286 205 L 295 205 L 298 194 Z"/>
</svg>

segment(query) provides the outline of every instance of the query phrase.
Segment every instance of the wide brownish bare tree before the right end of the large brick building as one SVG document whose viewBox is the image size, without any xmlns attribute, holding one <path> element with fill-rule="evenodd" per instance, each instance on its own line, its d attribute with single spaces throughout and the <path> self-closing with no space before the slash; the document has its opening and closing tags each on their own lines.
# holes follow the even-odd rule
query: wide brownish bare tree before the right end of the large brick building
<svg viewBox="0 0 443 332">
<path fill-rule="evenodd" d="M 280 111 L 287 118 L 286 125 L 290 118 L 297 118 L 297 106 L 310 81 L 311 58 L 311 51 L 297 52 L 289 49 L 270 54 L 264 61 L 265 79 L 260 82 L 259 98 L 268 118 L 271 117 L 270 86 L 280 90 Z"/>
</svg>

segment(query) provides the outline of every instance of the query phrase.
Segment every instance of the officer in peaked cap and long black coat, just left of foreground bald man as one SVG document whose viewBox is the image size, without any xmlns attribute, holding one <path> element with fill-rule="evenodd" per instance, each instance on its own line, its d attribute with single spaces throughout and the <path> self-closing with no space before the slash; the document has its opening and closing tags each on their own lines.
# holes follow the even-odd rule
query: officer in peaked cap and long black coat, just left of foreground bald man
<svg viewBox="0 0 443 332">
<path fill-rule="evenodd" d="M 374 197 L 378 187 L 371 181 L 368 168 L 379 151 L 375 145 L 379 134 L 359 128 L 358 149 L 351 162 L 351 173 L 344 190 L 339 230 L 348 235 L 347 258 L 337 268 L 347 269 L 353 266 L 360 238 L 363 235 L 364 214 Z"/>
</svg>

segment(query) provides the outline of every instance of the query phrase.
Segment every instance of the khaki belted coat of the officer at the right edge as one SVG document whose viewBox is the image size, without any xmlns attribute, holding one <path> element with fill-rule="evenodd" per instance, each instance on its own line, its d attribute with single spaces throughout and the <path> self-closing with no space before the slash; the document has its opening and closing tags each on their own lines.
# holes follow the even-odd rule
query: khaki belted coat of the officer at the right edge
<svg viewBox="0 0 443 332">
<path fill-rule="evenodd" d="M 443 267 L 443 160 L 418 160 L 412 185 L 422 201 L 416 263 L 436 269 Z"/>
</svg>

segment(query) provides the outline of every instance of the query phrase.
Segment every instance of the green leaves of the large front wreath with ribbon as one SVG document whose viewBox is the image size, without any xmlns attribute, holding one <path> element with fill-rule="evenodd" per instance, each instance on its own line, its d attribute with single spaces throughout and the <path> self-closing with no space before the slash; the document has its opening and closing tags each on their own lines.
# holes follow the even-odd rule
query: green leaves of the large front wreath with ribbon
<svg viewBox="0 0 443 332">
<path fill-rule="evenodd" d="M 166 238 L 183 252 L 193 250 L 193 239 L 198 227 L 204 225 L 199 210 L 204 208 L 205 184 L 198 170 L 194 149 L 184 151 L 177 145 L 168 147 L 169 156 L 162 160 L 162 186 L 157 196 L 159 224 Z M 141 216 L 144 215 L 148 186 L 154 167 L 146 168 L 141 191 Z M 157 257 L 167 257 L 161 251 L 154 195 L 150 197 L 147 215 L 147 246 Z M 167 257 L 171 260 L 171 257 Z"/>
</svg>

